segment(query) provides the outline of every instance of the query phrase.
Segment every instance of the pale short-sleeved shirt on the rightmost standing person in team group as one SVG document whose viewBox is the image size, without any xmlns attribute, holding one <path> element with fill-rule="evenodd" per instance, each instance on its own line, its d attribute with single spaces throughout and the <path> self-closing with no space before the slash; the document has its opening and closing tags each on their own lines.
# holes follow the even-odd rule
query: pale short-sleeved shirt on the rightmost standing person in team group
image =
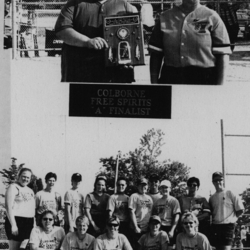
<svg viewBox="0 0 250 250">
<path fill-rule="evenodd" d="M 230 190 L 214 193 L 209 204 L 212 210 L 213 224 L 229 224 L 237 221 L 236 211 L 244 210 L 242 200 Z"/>
</svg>

